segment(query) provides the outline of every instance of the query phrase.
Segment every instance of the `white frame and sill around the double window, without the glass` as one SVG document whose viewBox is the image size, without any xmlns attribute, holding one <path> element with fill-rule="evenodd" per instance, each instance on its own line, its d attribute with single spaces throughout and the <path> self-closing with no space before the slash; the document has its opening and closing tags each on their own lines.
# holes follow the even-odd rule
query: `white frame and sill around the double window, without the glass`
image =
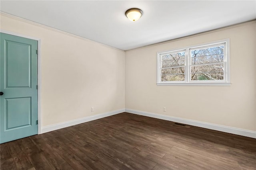
<svg viewBox="0 0 256 170">
<path fill-rule="evenodd" d="M 195 49 L 202 49 L 204 47 L 210 48 L 216 45 L 224 45 L 224 80 L 191 80 L 191 56 L 190 51 Z M 185 51 L 185 65 L 184 65 L 184 81 L 161 81 L 162 55 L 168 53 L 175 53 Z M 204 65 L 204 64 L 202 64 Z M 160 51 L 157 53 L 157 83 L 158 86 L 230 86 L 230 39 L 222 39 L 208 43 L 191 45 L 187 47 L 170 49 L 167 51 Z"/>
</svg>

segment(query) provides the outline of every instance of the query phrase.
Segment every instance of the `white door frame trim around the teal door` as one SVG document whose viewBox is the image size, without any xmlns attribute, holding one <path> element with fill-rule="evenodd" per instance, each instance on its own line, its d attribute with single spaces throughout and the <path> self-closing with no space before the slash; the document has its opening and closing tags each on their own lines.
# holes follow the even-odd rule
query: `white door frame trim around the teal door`
<svg viewBox="0 0 256 170">
<path fill-rule="evenodd" d="M 41 121 L 42 121 L 42 117 L 41 117 L 41 84 L 42 84 L 42 76 L 41 76 L 41 39 L 40 38 L 36 38 L 36 37 L 31 37 L 29 35 L 24 35 L 24 34 L 20 34 L 20 33 L 15 33 L 12 31 L 6 31 L 4 29 L 0 29 L 1 33 L 6 33 L 6 34 L 10 34 L 10 35 L 15 35 L 18 37 L 23 37 L 23 38 L 28 38 L 28 39 L 33 39 L 36 40 L 37 43 L 37 48 L 38 48 L 38 60 L 37 60 L 37 84 L 38 84 L 38 101 L 37 101 L 37 105 L 38 105 L 38 134 L 42 133 L 42 128 L 41 128 Z"/>
</svg>

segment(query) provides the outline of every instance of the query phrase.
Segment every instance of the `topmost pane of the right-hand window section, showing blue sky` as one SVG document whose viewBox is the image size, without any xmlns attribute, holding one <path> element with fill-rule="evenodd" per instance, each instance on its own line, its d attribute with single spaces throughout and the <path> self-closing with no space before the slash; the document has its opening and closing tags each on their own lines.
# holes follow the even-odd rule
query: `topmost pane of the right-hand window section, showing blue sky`
<svg viewBox="0 0 256 170">
<path fill-rule="evenodd" d="M 191 50 L 190 57 L 204 57 L 204 56 L 212 56 L 212 55 L 220 55 L 224 54 L 224 45 L 209 47 L 204 49 L 196 49 Z"/>
</svg>

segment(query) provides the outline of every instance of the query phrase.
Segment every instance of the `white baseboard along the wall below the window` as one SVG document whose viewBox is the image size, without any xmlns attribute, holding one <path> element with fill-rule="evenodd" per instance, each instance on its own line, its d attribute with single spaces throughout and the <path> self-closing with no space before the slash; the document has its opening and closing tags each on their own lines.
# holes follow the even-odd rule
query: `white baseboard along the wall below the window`
<svg viewBox="0 0 256 170">
<path fill-rule="evenodd" d="M 256 139 L 256 131 L 248 131 L 248 130 L 238 129 L 238 128 L 234 128 L 234 127 L 215 125 L 212 123 L 205 123 L 205 122 L 194 121 L 194 120 L 189 120 L 189 119 L 182 119 L 182 118 L 178 118 L 178 117 L 160 115 L 160 114 L 150 113 L 150 112 L 146 112 L 146 111 L 138 111 L 138 110 L 133 110 L 133 109 L 125 109 L 125 112 L 134 113 L 134 114 L 142 115 L 142 116 L 154 117 L 157 119 L 174 121 L 174 122 L 183 123 L 186 125 L 203 127 L 206 129 L 212 129 L 212 130 L 216 130 L 216 131 L 222 131 L 222 132 L 226 132 L 226 133 L 232 133 L 235 135 L 241 135 L 241 136 L 251 137 L 251 138 Z"/>
</svg>

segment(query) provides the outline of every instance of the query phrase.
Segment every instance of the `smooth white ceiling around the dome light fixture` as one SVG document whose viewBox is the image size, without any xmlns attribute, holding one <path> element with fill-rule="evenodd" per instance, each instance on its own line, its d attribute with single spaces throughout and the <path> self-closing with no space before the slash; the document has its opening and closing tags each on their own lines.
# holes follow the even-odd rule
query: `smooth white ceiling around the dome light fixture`
<svg viewBox="0 0 256 170">
<path fill-rule="evenodd" d="M 256 19 L 256 0 L 1 0 L 2 12 L 122 50 Z M 132 22 L 124 12 L 140 8 Z"/>
</svg>

